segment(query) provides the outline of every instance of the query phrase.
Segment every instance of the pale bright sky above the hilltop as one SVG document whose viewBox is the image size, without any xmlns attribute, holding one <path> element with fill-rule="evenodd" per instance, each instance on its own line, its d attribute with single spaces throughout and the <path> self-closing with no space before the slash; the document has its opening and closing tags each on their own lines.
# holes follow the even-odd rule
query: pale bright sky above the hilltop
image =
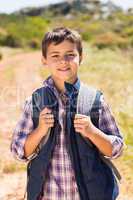
<svg viewBox="0 0 133 200">
<path fill-rule="evenodd" d="M 63 0 L 0 0 L 0 13 L 11 13 L 20 8 L 27 6 L 42 6 L 50 3 L 57 3 Z M 108 0 L 101 0 L 107 2 Z M 112 0 L 115 4 L 122 6 L 124 9 L 133 8 L 133 0 Z"/>
</svg>

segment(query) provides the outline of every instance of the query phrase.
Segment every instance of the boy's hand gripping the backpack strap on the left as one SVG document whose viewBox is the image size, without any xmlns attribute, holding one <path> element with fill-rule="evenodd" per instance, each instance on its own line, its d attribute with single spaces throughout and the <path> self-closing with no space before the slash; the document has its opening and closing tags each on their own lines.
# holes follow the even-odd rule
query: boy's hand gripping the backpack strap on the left
<svg viewBox="0 0 133 200">
<path fill-rule="evenodd" d="M 43 132 L 44 135 L 46 135 L 48 129 L 53 126 L 54 126 L 54 115 L 52 114 L 52 111 L 50 109 L 44 108 L 40 112 L 38 129 L 41 132 Z"/>
</svg>

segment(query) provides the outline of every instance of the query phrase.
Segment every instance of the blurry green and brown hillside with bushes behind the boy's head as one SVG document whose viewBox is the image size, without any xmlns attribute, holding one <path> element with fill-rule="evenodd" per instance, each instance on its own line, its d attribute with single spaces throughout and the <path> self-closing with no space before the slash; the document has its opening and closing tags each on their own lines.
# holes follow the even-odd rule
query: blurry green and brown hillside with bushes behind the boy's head
<svg viewBox="0 0 133 200">
<path fill-rule="evenodd" d="M 81 1 L 82 2 L 82 1 Z M 49 7 L 26 8 L 10 15 L 0 14 L 0 45 L 40 48 L 40 38 L 55 26 L 77 29 L 83 40 L 99 49 L 133 47 L 132 11 L 113 4 L 58 3 Z"/>
</svg>

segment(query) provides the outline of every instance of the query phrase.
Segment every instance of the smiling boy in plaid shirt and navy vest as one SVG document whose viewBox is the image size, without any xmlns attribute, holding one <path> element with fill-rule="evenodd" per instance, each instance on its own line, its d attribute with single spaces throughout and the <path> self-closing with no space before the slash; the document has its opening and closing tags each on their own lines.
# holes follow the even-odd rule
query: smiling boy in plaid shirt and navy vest
<svg viewBox="0 0 133 200">
<path fill-rule="evenodd" d="M 79 34 L 64 27 L 48 32 L 42 54 L 51 76 L 26 101 L 11 144 L 18 159 L 29 161 L 27 199 L 115 200 L 117 183 L 99 155 L 118 157 L 123 140 L 103 95 L 98 128 L 90 117 L 73 115 L 81 84 Z"/>
</svg>

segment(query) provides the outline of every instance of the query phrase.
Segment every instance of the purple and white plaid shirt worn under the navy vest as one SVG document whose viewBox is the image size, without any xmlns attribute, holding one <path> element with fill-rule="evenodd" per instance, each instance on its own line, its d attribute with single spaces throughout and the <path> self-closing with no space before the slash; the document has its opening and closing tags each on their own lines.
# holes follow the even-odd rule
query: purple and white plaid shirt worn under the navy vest
<svg viewBox="0 0 133 200">
<path fill-rule="evenodd" d="M 51 78 L 44 81 L 44 85 L 50 87 L 57 99 L 59 99 L 59 121 L 61 124 L 61 132 L 57 135 L 57 143 L 48 167 L 47 177 L 44 184 L 44 196 L 40 199 L 79 200 L 78 187 L 65 140 L 66 133 L 64 132 L 64 120 L 66 96 L 65 94 L 59 94 Z M 80 81 L 78 80 L 74 86 L 79 88 Z M 101 105 L 99 113 L 99 129 L 105 133 L 112 133 L 112 135 L 108 136 L 113 145 L 111 158 L 117 158 L 122 151 L 122 136 L 103 96 L 101 97 Z M 11 144 L 11 151 L 20 160 L 28 161 L 37 155 L 35 152 L 28 158 L 24 157 L 24 143 L 28 134 L 32 131 L 32 101 L 31 98 L 29 98 L 25 103 L 21 119 L 14 130 Z"/>
</svg>

